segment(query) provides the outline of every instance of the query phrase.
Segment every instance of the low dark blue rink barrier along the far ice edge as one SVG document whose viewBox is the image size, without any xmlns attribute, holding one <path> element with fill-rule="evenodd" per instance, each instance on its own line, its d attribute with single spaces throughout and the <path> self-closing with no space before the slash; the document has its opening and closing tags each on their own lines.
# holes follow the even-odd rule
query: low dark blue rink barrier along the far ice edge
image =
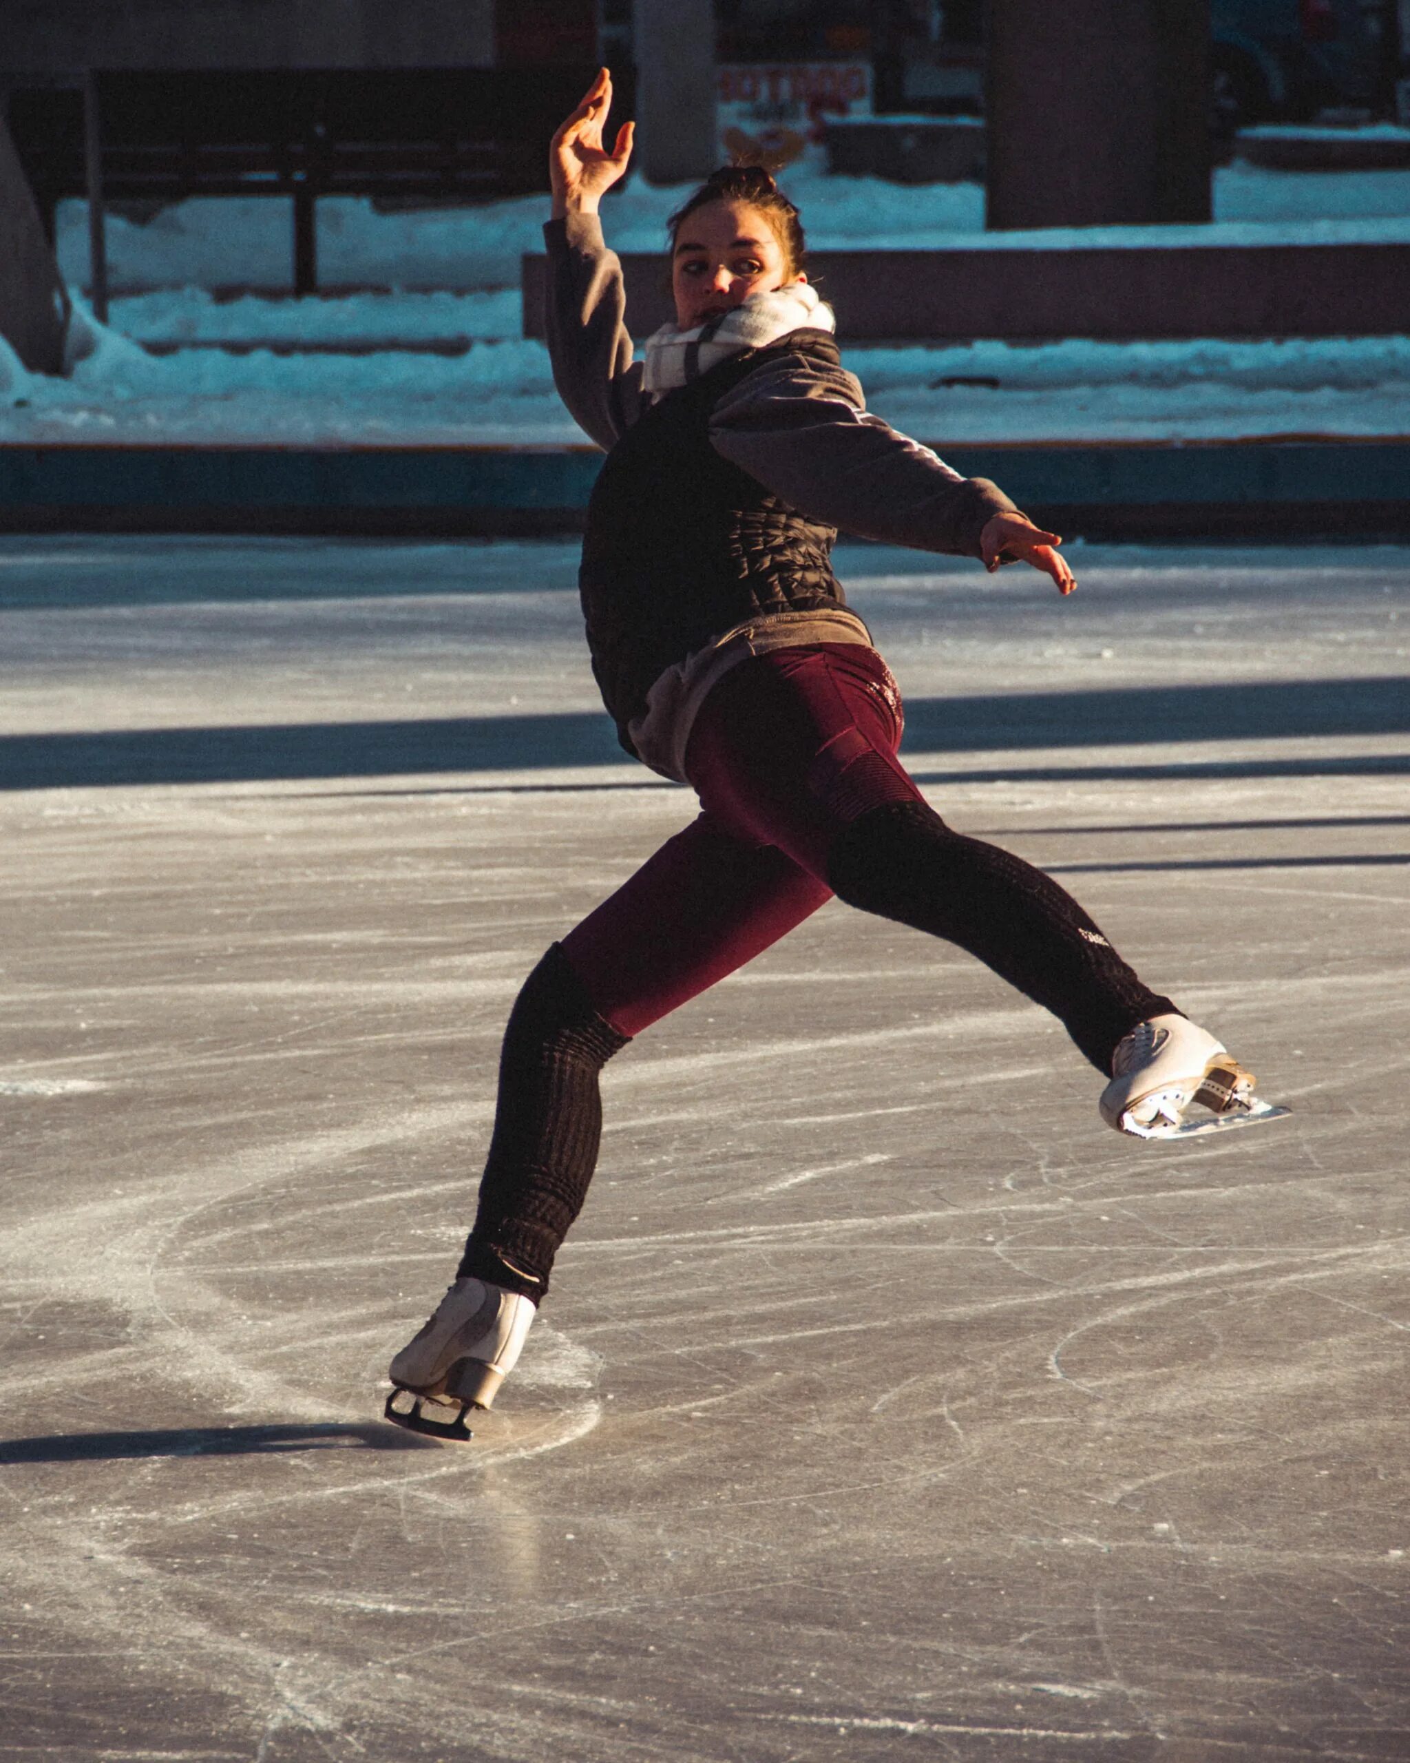
<svg viewBox="0 0 1410 1763">
<path fill-rule="evenodd" d="M 1087 536 L 1410 534 L 1410 435 L 945 446 Z M 518 536 L 582 531 L 578 448 L 0 444 L 0 531 Z"/>
</svg>

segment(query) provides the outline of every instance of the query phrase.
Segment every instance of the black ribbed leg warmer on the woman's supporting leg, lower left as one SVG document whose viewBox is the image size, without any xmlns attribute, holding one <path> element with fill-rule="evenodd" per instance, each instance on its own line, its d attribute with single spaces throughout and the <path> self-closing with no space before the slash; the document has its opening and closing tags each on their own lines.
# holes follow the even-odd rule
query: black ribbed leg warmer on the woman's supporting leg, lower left
<svg viewBox="0 0 1410 1763">
<path fill-rule="evenodd" d="M 541 1299 L 603 1134 L 597 1074 L 627 1044 L 553 943 L 523 982 L 499 1060 L 499 1104 L 460 1275 Z"/>
</svg>

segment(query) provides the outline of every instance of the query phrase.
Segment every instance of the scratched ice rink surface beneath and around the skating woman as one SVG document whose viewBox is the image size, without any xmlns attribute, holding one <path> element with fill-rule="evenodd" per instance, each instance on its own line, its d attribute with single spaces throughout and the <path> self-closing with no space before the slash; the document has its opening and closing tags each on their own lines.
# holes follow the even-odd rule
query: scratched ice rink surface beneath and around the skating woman
<svg viewBox="0 0 1410 1763">
<path fill-rule="evenodd" d="M 9 1756 L 1410 1749 L 1410 552 L 1073 562 L 842 573 L 936 806 L 1294 1118 L 1119 1139 L 1040 1012 L 828 906 L 608 1068 L 456 1451 L 379 1379 L 504 1014 L 689 815 L 573 548 L 0 539 Z"/>
</svg>

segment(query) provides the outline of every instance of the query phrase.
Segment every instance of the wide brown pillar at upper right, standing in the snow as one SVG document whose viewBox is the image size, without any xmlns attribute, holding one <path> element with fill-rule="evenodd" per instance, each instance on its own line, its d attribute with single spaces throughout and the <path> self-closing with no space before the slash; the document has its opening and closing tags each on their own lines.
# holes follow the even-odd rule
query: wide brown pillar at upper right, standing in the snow
<svg viewBox="0 0 1410 1763">
<path fill-rule="evenodd" d="M 1209 0 L 989 0 L 985 224 L 1200 222 Z"/>
</svg>

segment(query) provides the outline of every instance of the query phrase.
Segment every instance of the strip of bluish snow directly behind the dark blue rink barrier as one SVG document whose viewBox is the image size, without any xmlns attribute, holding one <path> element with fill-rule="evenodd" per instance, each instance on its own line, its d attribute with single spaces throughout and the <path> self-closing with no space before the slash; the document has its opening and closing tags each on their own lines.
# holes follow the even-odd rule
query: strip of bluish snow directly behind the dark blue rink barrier
<svg viewBox="0 0 1410 1763">
<path fill-rule="evenodd" d="M 390 310 L 379 312 L 377 296 L 361 296 L 354 333 L 404 328 L 412 298 L 382 296 Z M 252 331 L 264 335 L 301 310 L 284 301 L 241 305 L 266 309 L 250 312 Z M 176 307 L 173 300 L 167 314 Z M 268 349 L 153 358 L 115 331 L 90 330 L 97 347 L 67 381 L 28 376 L 5 353 L 0 439 L 585 444 L 553 391 L 548 353 L 536 342 L 479 338 L 456 358 L 277 356 Z M 991 340 L 855 349 L 848 360 L 874 409 L 952 448 L 989 441 L 1396 435 L 1410 428 L 1406 337 L 1169 344 L 1072 338 L 1038 347 Z"/>
</svg>

